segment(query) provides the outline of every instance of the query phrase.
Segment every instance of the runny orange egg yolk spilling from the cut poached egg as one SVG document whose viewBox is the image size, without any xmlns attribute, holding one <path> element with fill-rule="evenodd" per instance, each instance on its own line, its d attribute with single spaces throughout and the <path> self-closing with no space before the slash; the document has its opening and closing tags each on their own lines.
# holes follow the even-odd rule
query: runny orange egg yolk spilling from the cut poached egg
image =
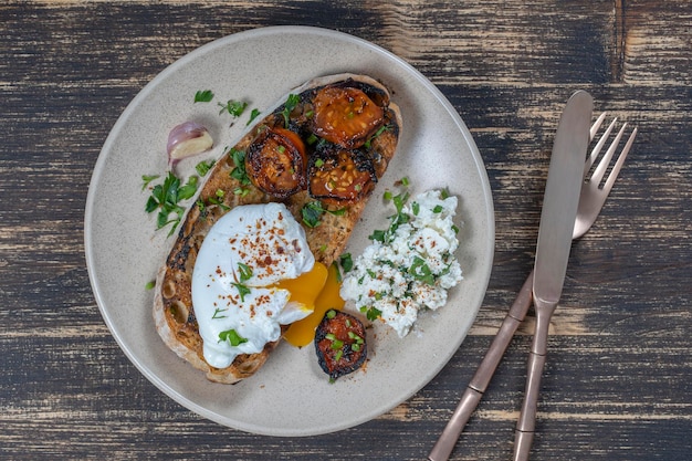
<svg viewBox="0 0 692 461">
<path fill-rule="evenodd" d="M 291 324 L 283 337 L 296 347 L 303 347 L 315 338 L 315 329 L 329 308 L 342 310 L 344 300 L 339 296 L 339 273 L 334 264 L 327 270 L 324 264 L 315 262 L 312 271 L 297 279 L 279 283 L 291 292 L 291 301 L 312 304 L 314 311 L 302 321 Z M 305 301 L 304 301 L 305 300 Z"/>
</svg>

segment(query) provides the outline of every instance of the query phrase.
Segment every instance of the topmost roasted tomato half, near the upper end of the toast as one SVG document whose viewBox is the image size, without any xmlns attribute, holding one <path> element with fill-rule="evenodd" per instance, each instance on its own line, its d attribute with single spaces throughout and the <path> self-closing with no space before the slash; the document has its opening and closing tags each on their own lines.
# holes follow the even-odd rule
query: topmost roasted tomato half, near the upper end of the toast
<svg viewBox="0 0 692 461">
<path fill-rule="evenodd" d="M 315 135 L 349 149 L 363 146 L 384 122 L 382 108 L 358 88 L 326 86 L 313 105 Z"/>
</svg>

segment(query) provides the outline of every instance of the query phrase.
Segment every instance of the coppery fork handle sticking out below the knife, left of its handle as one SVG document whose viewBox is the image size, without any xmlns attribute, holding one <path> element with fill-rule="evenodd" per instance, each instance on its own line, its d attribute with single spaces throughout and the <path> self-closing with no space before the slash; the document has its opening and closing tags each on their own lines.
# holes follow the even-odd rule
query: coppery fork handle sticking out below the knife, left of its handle
<svg viewBox="0 0 692 461">
<path fill-rule="evenodd" d="M 497 365 L 500 365 L 507 346 L 512 342 L 516 328 L 526 316 L 526 312 L 528 312 L 533 283 L 534 272 L 531 271 L 512 307 L 510 307 L 510 312 L 504 317 L 500 331 L 485 353 L 485 357 L 483 357 L 481 365 L 479 365 L 473 378 L 471 378 L 457 409 L 452 413 L 452 418 L 447 423 L 432 451 L 430 451 L 428 455 L 430 461 L 445 461 L 449 459 L 457 440 L 459 440 L 459 436 L 461 436 L 463 428 L 469 422 L 469 418 L 471 418 L 471 413 L 473 413 L 473 410 L 481 401 L 483 392 L 485 392 L 491 378 L 497 369 Z"/>
</svg>

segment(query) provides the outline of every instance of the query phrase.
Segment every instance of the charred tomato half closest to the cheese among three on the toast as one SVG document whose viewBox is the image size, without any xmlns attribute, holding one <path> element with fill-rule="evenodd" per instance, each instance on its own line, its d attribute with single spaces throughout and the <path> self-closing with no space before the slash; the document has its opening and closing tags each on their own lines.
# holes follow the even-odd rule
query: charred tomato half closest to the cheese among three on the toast
<svg viewBox="0 0 692 461">
<path fill-rule="evenodd" d="M 353 205 L 370 193 L 377 176 L 370 157 L 332 145 L 318 149 L 308 168 L 310 195 L 327 205 Z"/>
</svg>

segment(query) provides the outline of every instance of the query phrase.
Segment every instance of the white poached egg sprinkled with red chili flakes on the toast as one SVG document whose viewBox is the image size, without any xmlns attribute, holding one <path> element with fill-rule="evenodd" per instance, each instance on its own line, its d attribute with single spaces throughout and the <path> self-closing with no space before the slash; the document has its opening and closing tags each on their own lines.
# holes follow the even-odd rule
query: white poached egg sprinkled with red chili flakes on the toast
<svg viewBox="0 0 692 461">
<path fill-rule="evenodd" d="M 310 315 L 310 300 L 292 301 L 289 281 L 302 275 L 310 275 L 314 303 L 327 270 L 315 263 L 304 229 L 283 203 L 240 206 L 221 217 L 205 238 L 192 273 L 207 363 L 226 368 L 240 354 L 260 353 L 281 337 L 281 325 Z"/>
</svg>

